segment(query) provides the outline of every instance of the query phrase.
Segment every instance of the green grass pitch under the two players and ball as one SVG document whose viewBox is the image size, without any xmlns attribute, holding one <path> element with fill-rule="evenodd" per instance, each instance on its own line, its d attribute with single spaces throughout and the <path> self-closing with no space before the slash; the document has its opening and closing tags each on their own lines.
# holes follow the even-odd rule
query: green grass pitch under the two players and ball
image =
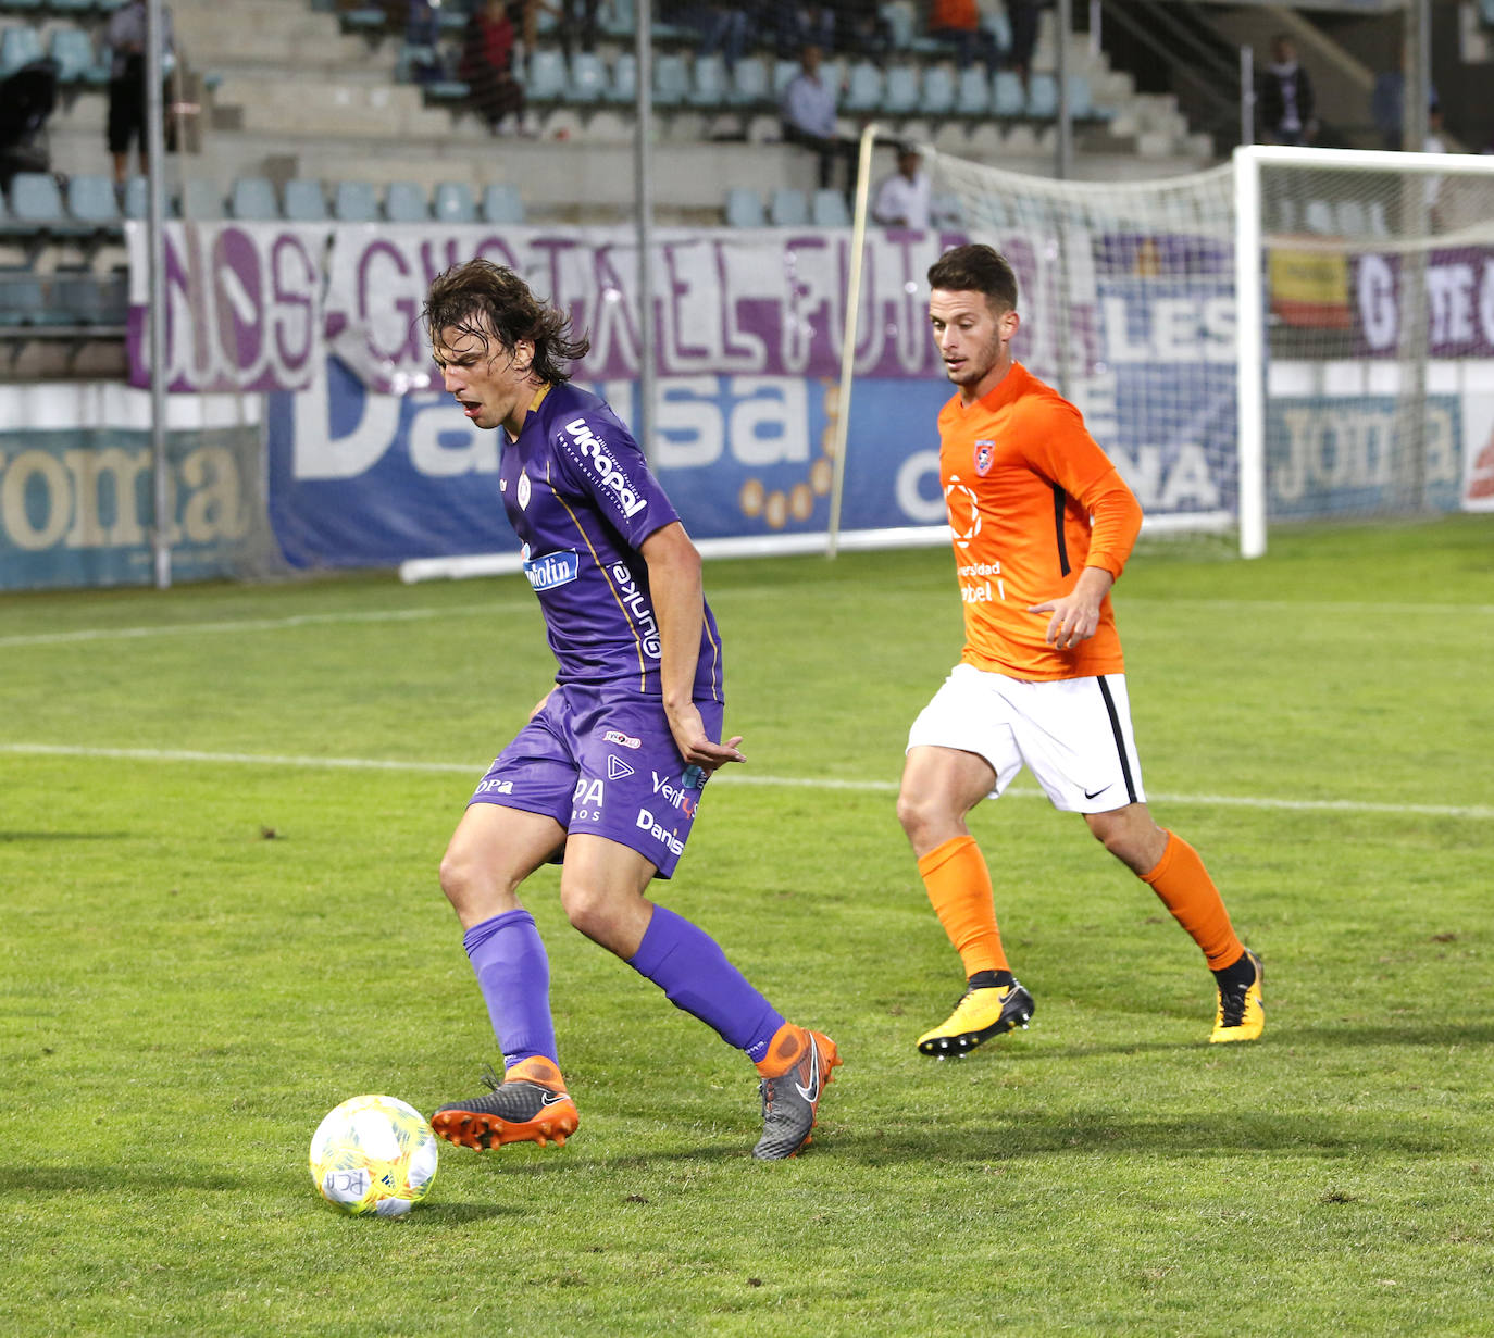
<svg viewBox="0 0 1494 1338">
<path fill-rule="evenodd" d="M 961 989 L 893 814 L 944 551 L 707 566 L 728 727 L 659 899 L 846 1066 L 757 1165 L 750 1066 L 562 920 L 581 1130 L 444 1147 L 403 1222 L 306 1174 L 495 1047 L 441 850 L 551 673 L 520 578 L 0 599 L 0 1332 L 1491 1332 L 1494 517 L 1138 554 L 1144 780 L 1267 969 L 1209 1047 L 1161 903 L 1026 784 L 977 809 L 1032 1029 Z"/>
</svg>

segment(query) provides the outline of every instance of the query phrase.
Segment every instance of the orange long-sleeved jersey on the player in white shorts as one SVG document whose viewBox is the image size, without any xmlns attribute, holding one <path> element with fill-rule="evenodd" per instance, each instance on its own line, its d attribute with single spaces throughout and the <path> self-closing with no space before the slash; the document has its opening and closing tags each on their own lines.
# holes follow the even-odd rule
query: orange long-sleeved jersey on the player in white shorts
<svg viewBox="0 0 1494 1338">
<path fill-rule="evenodd" d="M 1050 614 L 1028 612 L 1068 594 L 1086 566 L 1119 576 L 1141 529 L 1140 503 L 1079 409 L 1013 363 L 985 399 L 944 405 L 938 432 L 965 603 L 961 660 L 1037 681 L 1122 673 L 1109 594 L 1098 630 L 1073 650 L 1043 639 Z"/>
</svg>

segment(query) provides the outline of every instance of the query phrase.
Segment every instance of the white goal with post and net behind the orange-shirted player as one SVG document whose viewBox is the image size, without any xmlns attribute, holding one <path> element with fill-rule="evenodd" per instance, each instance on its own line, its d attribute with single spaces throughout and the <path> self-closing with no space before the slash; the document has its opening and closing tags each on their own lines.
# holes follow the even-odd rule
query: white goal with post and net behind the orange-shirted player
<svg viewBox="0 0 1494 1338">
<path fill-rule="evenodd" d="M 1273 523 L 1494 509 L 1494 160 L 1247 146 L 1079 182 L 923 152 L 1143 535 L 1256 556 Z"/>
</svg>

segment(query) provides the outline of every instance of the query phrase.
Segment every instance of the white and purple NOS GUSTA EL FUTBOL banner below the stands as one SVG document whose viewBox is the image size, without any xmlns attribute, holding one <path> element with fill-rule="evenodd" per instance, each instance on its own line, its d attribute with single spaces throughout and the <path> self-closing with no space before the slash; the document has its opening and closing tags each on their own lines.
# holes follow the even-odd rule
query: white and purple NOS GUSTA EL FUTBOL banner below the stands
<svg viewBox="0 0 1494 1338">
<path fill-rule="evenodd" d="M 656 234 L 654 349 L 662 376 L 835 376 L 850 233 L 741 228 Z M 130 245 L 130 378 L 149 384 L 145 233 Z M 867 242 L 856 370 L 923 378 L 925 273 L 962 234 L 877 231 Z M 393 224 L 172 223 L 166 358 L 172 390 L 303 390 L 336 354 L 365 384 L 429 384 L 420 309 L 444 269 L 486 257 L 571 312 L 592 340 L 577 375 L 638 375 L 630 230 Z"/>
</svg>

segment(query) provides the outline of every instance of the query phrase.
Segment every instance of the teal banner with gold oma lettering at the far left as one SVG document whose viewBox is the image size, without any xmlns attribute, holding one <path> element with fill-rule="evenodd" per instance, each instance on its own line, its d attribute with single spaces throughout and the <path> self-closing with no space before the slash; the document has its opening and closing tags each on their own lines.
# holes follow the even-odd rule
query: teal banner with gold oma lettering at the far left
<svg viewBox="0 0 1494 1338">
<path fill-rule="evenodd" d="M 173 579 L 233 575 L 254 526 L 258 432 L 167 435 Z M 151 435 L 0 432 L 0 588 L 154 579 Z"/>
</svg>

